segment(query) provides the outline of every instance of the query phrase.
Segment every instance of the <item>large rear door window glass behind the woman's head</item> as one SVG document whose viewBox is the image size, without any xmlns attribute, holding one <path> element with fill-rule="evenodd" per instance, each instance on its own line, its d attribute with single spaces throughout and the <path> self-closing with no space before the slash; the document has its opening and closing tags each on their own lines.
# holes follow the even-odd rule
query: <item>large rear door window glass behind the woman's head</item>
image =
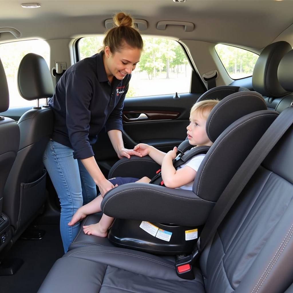
<svg viewBox="0 0 293 293">
<path fill-rule="evenodd" d="M 102 37 L 79 41 L 80 59 L 103 48 Z M 182 47 L 174 40 L 143 38 L 144 50 L 129 84 L 126 97 L 189 93 L 192 68 Z"/>
</svg>

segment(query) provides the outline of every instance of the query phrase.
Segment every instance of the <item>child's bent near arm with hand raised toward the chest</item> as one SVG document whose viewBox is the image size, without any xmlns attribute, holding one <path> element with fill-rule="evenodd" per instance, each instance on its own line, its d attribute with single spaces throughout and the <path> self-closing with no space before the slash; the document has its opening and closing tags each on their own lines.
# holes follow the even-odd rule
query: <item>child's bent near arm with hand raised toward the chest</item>
<svg viewBox="0 0 293 293">
<path fill-rule="evenodd" d="M 177 148 L 174 147 L 172 151 L 168 151 L 163 159 L 161 174 L 166 187 L 177 188 L 192 182 L 196 176 L 196 171 L 193 168 L 185 166 L 176 170 L 173 166 L 172 160 L 176 158 Z"/>
</svg>

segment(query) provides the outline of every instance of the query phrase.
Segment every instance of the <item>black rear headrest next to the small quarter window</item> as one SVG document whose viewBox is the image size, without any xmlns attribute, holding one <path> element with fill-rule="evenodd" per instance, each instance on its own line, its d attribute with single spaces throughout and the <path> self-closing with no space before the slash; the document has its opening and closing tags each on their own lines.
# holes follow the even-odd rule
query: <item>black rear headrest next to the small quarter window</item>
<svg viewBox="0 0 293 293">
<path fill-rule="evenodd" d="M 275 42 L 263 49 L 252 74 L 253 89 L 263 96 L 280 97 L 288 92 L 280 85 L 277 70 L 282 57 L 292 50 L 285 41 Z"/>
</svg>

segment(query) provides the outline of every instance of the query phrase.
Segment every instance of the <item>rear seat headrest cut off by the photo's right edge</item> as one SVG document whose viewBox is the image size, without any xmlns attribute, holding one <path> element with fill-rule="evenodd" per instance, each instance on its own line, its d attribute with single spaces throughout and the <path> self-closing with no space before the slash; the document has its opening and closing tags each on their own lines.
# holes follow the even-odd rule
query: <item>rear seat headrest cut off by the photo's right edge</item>
<svg viewBox="0 0 293 293">
<path fill-rule="evenodd" d="M 278 79 L 286 91 L 293 92 L 293 50 L 282 58 L 278 67 Z"/>
</svg>

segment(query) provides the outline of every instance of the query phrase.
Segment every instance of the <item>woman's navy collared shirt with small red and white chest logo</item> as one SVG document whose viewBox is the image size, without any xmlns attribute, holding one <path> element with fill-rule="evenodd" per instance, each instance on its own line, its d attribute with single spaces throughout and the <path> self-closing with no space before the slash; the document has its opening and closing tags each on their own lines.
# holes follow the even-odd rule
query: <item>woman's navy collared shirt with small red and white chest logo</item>
<svg viewBox="0 0 293 293">
<path fill-rule="evenodd" d="M 74 159 L 94 155 L 98 133 L 122 131 L 122 109 L 131 74 L 108 81 L 103 54 L 85 58 L 62 75 L 49 101 L 54 113 L 52 139 L 74 149 Z"/>
</svg>

